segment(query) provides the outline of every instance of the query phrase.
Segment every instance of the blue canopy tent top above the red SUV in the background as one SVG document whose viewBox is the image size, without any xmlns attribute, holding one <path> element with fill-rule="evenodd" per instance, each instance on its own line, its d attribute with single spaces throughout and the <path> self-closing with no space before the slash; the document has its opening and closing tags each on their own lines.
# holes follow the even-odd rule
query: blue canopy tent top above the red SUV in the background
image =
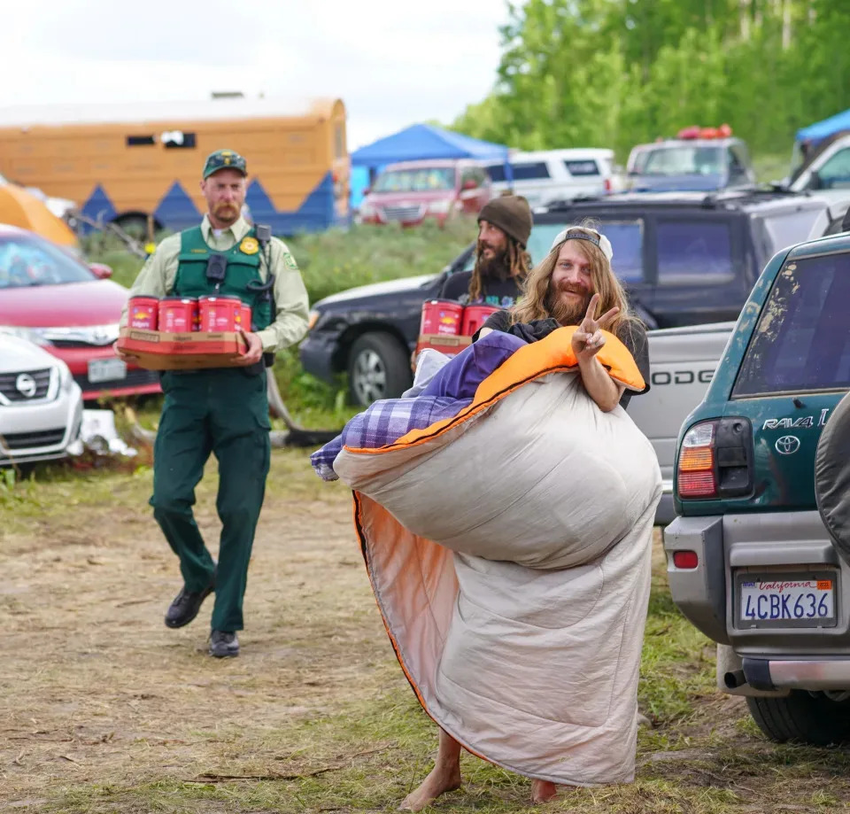
<svg viewBox="0 0 850 814">
<path fill-rule="evenodd" d="M 507 158 L 508 148 L 505 144 L 483 142 L 429 124 L 413 124 L 392 136 L 379 138 L 376 142 L 360 147 L 351 155 L 352 167 L 367 167 L 370 180 L 387 164 L 419 159 L 502 160 L 506 178 L 513 180 Z"/>
</svg>

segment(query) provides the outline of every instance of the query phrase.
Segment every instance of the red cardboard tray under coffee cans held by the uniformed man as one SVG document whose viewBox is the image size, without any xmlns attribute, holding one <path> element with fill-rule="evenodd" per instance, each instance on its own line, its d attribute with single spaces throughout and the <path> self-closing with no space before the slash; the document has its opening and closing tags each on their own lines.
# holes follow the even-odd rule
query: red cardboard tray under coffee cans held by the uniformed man
<svg viewBox="0 0 850 814">
<path fill-rule="evenodd" d="M 146 370 L 233 368 L 247 350 L 242 334 L 236 331 L 175 334 L 141 328 L 122 328 L 117 346 L 135 356 L 135 364 Z"/>
</svg>

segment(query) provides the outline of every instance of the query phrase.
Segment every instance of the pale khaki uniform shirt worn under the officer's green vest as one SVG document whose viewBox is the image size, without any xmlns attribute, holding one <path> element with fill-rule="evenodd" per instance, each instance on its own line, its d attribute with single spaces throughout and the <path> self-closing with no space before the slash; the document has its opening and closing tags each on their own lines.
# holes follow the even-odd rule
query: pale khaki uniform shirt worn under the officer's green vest
<svg viewBox="0 0 850 814">
<path fill-rule="evenodd" d="M 213 251 L 226 252 L 251 232 L 251 226 L 240 217 L 233 226 L 222 229 L 219 235 L 213 232 L 208 215 L 201 221 L 204 239 Z M 180 255 L 180 234 L 166 237 L 157 246 L 157 251 L 145 262 L 130 297 L 166 297 L 174 291 L 177 275 L 177 258 Z M 273 237 L 269 244 L 270 266 L 274 273 L 274 305 L 277 308 L 273 322 L 268 328 L 258 331 L 264 351 L 278 351 L 295 345 L 307 332 L 307 291 L 298 264 L 286 244 Z M 265 283 L 268 277 L 265 261 L 259 265 L 259 275 Z M 127 306 L 121 314 L 121 326 L 127 324 Z"/>
</svg>

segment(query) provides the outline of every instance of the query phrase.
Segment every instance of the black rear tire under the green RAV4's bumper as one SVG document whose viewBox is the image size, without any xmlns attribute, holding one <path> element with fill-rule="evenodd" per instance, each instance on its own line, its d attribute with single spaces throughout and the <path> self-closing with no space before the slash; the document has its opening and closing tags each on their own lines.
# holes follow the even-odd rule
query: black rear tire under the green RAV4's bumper
<svg viewBox="0 0 850 814">
<path fill-rule="evenodd" d="M 850 740 L 850 701 L 832 701 L 823 693 L 792 690 L 785 698 L 746 699 L 753 720 L 770 740 L 799 740 L 829 746 Z"/>
</svg>

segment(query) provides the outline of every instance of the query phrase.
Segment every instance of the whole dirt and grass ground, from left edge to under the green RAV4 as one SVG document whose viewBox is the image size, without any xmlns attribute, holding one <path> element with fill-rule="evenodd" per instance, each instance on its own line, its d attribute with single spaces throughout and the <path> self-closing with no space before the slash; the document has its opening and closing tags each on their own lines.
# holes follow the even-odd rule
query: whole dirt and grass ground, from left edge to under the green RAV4
<svg viewBox="0 0 850 814">
<path fill-rule="evenodd" d="M 206 532 L 213 485 L 199 492 Z M 383 630 L 349 493 L 314 482 L 304 454 L 275 453 L 243 652 L 221 661 L 206 653 L 212 600 L 182 630 L 163 624 L 181 580 L 149 493 L 149 470 L 60 478 L 0 513 L 0 811 L 393 810 L 436 738 Z M 660 547 L 656 561 L 661 585 Z M 677 655 L 693 634 L 666 619 L 647 641 L 679 661 L 645 656 L 638 782 L 548 810 L 845 810 L 845 753 L 769 744 L 707 684 L 707 642 Z M 527 781 L 464 760 L 467 786 L 435 810 L 526 810 Z"/>
</svg>

